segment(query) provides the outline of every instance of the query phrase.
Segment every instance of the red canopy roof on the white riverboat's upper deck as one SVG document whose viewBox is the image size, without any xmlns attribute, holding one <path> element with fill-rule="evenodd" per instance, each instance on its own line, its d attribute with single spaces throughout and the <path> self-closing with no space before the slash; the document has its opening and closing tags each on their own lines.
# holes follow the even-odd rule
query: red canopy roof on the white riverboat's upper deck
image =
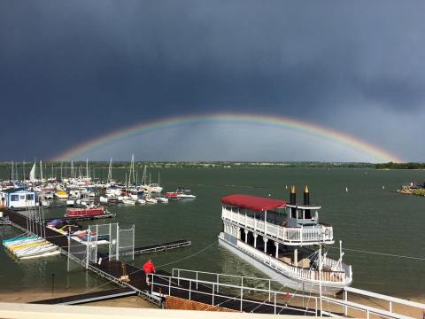
<svg viewBox="0 0 425 319">
<path fill-rule="evenodd" d="M 286 206 L 286 201 L 273 198 L 261 198 L 251 195 L 229 195 L 221 198 L 221 203 L 261 212 Z"/>
</svg>

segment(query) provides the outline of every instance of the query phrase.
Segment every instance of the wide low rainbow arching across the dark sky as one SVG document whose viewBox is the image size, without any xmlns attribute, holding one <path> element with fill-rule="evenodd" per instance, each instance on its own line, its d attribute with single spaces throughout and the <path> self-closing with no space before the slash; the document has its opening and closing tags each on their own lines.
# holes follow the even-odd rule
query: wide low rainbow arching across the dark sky
<svg viewBox="0 0 425 319">
<path fill-rule="evenodd" d="M 156 129 L 162 128 L 173 128 L 178 126 L 185 126 L 191 124 L 206 124 L 206 123 L 217 123 L 217 122 L 228 122 L 235 124 L 244 125 L 264 125 L 274 126 L 278 128 L 291 128 L 301 132 L 313 134 L 329 141 L 335 141 L 341 144 L 345 144 L 349 147 L 357 149 L 361 152 L 367 153 L 369 156 L 375 159 L 382 160 L 383 162 L 404 162 L 403 159 L 398 159 L 397 156 L 385 152 L 382 149 L 367 144 L 364 141 L 359 140 L 353 136 L 346 135 L 342 132 L 323 128 L 321 126 L 308 123 L 305 121 L 298 121 L 287 117 L 260 115 L 260 114 L 246 114 L 246 113 L 214 113 L 205 115 L 185 115 L 179 117 L 171 117 L 157 121 L 142 122 L 130 126 L 128 128 L 121 128 L 104 136 L 90 139 L 89 141 L 79 144 L 72 149 L 58 155 L 54 160 L 71 160 L 75 157 L 80 156 L 84 152 L 96 149 L 97 147 L 103 146 L 104 144 L 117 142 L 128 136 L 135 136 L 143 134 Z"/>
</svg>

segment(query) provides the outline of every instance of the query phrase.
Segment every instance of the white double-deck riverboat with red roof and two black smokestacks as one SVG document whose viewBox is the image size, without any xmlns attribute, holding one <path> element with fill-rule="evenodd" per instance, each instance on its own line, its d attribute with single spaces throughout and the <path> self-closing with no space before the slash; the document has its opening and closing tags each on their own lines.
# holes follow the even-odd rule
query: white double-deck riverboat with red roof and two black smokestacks
<svg viewBox="0 0 425 319">
<path fill-rule="evenodd" d="M 310 206 L 305 187 L 298 205 L 273 198 L 230 195 L 221 198 L 223 230 L 219 243 L 283 285 L 306 293 L 335 295 L 352 284 L 352 266 L 323 253 L 335 243 L 333 228 L 319 222 L 321 206 Z"/>
</svg>

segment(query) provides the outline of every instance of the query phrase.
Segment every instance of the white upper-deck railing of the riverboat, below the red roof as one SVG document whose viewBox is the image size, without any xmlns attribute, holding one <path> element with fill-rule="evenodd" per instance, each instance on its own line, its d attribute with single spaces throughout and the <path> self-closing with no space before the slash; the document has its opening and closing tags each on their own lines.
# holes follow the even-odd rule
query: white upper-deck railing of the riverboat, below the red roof
<svg viewBox="0 0 425 319">
<path fill-rule="evenodd" d="M 313 244 L 334 242 L 334 234 L 331 226 L 319 224 L 317 227 L 297 227 L 289 228 L 274 225 L 270 222 L 260 221 L 256 218 L 248 217 L 244 214 L 232 212 L 223 207 L 221 218 L 230 222 L 235 222 L 244 229 L 251 229 L 260 234 L 266 234 L 282 241 L 286 245 Z"/>
</svg>

